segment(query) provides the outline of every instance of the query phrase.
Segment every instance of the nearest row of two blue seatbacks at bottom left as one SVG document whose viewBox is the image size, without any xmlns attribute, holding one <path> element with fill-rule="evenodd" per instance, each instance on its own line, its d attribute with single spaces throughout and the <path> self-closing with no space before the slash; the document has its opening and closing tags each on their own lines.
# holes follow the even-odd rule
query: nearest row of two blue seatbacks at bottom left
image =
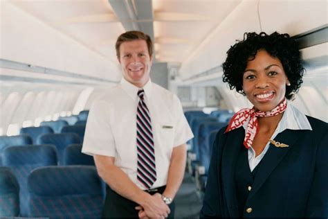
<svg viewBox="0 0 328 219">
<path fill-rule="evenodd" d="M 27 175 L 24 196 L 17 175 L 0 167 L 0 218 L 100 218 L 102 181 L 94 166 L 44 166 Z"/>
</svg>

